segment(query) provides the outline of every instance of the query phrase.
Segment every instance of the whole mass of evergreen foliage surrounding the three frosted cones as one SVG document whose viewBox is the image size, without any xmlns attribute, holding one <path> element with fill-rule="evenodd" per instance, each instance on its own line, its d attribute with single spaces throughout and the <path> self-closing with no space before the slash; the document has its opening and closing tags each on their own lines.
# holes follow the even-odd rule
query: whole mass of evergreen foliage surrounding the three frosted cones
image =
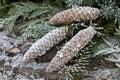
<svg viewBox="0 0 120 80">
<path fill-rule="evenodd" d="M 55 27 L 48 25 L 48 20 L 61 10 L 79 6 L 99 8 L 101 16 L 92 23 L 96 23 L 97 27 L 103 28 L 97 30 L 102 35 L 94 37 L 91 43 L 65 65 L 64 68 L 68 71 L 67 75 L 69 75 L 67 80 L 81 79 L 81 72 L 86 70 L 91 58 L 103 57 L 120 67 L 119 0 L 17 0 L 16 2 L 13 0 L 0 0 L 0 6 L 0 23 L 4 26 L 3 32 L 8 36 L 12 32 L 18 36 L 15 45 L 26 40 L 34 42 L 53 30 Z M 75 33 L 84 28 L 78 22 L 72 25 L 74 24 L 75 26 L 70 29 L 67 39 L 70 39 Z M 91 25 L 90 22 L 85 24 Z M 15 30 L 18 30 L 18 32 Z M 102 40 L 101 37 L 105 38 L 106 41 Z"/>
</svg>

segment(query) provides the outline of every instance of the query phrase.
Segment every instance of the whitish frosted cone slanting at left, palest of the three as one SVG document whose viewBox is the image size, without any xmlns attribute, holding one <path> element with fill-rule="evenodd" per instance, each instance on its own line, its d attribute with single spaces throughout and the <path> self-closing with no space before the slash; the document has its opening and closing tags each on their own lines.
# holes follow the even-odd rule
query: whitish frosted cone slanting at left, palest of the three
<svg viewBox="0 0 120 80">
<path fill-rule="evenodd" d="M 23 62 L 27 62 L 31 59 L 36 58 L 37 56 L 42 56 L 54 45 L 62 41 L 67 34 L 67 27 L 60 27 L 54 29 L 43 36 L 41 39 L 37 40 L 25 53 L 23 57 Z"/>
</svg>

